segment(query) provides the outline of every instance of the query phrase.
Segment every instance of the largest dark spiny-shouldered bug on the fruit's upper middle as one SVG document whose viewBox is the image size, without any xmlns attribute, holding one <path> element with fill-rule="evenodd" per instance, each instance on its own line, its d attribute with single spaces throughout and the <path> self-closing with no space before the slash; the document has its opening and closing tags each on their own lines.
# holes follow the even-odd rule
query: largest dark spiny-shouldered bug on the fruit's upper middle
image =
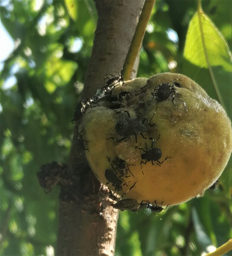
<svg viewBox="0 0 232 256">
<path fill-rule="evenodd" d="M 124 111 L 124 112 L 115 111 L 115 112 L 116 113 L 127 113 L 127 117 L 125 116 L 125 114 L 118 115 L 119 119 L 115 125 L 116 132 L 118 133 L 118 135 L 123 136 L 123 138 L 117 140 L 114 137 L 110 137 L 110 138 L 107 138 L 107 140 L 113 139 L 114 141 L 121 142 L 128 136 L 134 135 L 135 136 L 135 148 L 137 148 L 137 135 L 138 134 L 140 134 L 144 139 L 150 139 L 150 140 L 153 139 L 148 132 L 147 125 L 149 125 L 150 127 L 153 127 L 155 125 L 155 124 L 153 124 L 153 125 L 150 124 L 155 113 L 152 116 L 152 118 L 150 119 L 150 121 L 148 121 L 147 118 L 144 118 L 143 120 L 141 120 L 140 118 L 132 118 L 128 111 Z M 147 124 L 145 124 L 145 121 L 147 121 Z M 145 137 L 142 132 L 147 132 L 150 137 L 149 138 Z"/>
</svg>

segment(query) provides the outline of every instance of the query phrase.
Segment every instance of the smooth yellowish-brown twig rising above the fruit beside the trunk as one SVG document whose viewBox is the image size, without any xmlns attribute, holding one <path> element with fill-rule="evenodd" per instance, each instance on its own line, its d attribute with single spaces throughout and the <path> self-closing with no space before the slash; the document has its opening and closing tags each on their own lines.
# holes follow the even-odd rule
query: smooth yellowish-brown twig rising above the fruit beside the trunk
<svg viewBox="0 0 232 256">
<path fill-rule="evenodd" d="M 137 54 L 140 51 L 143 37 L 147 28 L 147 23 L 149 21 L 151 11 L 155 1 L 156 0 L 146 0 L 143 5 L 143 10 L 141 12 L 139 22 L 134 32 L 134 37 L 131 41 L 130 49 L 127 53 L 127 57 L 124 62 L 124 66 L 122 70 L 122 76 L 124 77 L 125 80 L 128 80 L 130 78 Z"/>
</svg>

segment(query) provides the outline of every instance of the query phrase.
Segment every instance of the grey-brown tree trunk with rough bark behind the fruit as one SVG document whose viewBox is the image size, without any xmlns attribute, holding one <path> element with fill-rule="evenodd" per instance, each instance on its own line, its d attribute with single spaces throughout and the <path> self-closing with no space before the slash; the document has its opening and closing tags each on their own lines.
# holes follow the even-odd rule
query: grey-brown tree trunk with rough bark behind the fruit
<svg viewBox="0 0 232 256">
<path fill-rule="evenodd" d="M 145 0 L 95 0 L 98 24 L 82 98 L 120 73 Z M 133 70 L 137 73 L 138 61 Z M 74 131 L 69 157 L 69 186 L 61 186 L 56 255 L 114 255 L 118 211 L 108 190 L 93 175 Z"/>
</svg>

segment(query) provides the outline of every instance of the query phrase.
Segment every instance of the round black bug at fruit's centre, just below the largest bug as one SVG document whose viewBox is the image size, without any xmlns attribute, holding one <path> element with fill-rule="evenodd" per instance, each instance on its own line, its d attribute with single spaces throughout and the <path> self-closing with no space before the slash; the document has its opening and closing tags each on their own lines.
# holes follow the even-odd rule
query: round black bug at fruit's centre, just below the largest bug
<svg viewBox="0 0 232 256">
<path fill-rule="evenodd" d="M 160 137 L 160 134 L 159 134 L 159 137 Z M 168 158 L 171 158 L 171 157 L 166 157 L 162 162 L 159 161 L 159 159 L 162 157 L 162 151 L 157 147 L 153 147 L 154 145 L 156 146 L 155 141 L 157 141 L 158 139 L 152 141 L 150 149 L 147 148 L 146 143 L 145 143 L 146 150 L 144 150 L 141 147 L 141 143 L 140 143 L 140 147 L 138 147 L 140 150 L 141 158 L 142 158 L 142 160 L 140 162 L 142 173 L 143 173 L 142 164 L 147 164 L 147 162 L 151 162 L 152 165 L 160 166 L 161 164 L 163 164 L 163 162 L 165 160 L 167 160 Z M 143 154 L 141 153 L 141 150 L 144 152 Z M 145 160 L 145 161 L 143 161 L 143 160 Z M 155 164 L 155 162 L 157 162 L 158 164 Z"/>
</svg>

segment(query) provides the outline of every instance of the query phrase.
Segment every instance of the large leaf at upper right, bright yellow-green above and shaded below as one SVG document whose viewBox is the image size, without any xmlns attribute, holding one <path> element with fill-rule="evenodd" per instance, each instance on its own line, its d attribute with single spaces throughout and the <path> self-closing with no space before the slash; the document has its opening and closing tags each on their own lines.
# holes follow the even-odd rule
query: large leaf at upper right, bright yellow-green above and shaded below
<svg viewBox="0 0 232 256">
<path fill-rule="evenodd" d="M 201 10 L 190 21 L 182 73 L 199 83 L 231 115 L 232 54 L 227 42 Z"/>
</svg>

